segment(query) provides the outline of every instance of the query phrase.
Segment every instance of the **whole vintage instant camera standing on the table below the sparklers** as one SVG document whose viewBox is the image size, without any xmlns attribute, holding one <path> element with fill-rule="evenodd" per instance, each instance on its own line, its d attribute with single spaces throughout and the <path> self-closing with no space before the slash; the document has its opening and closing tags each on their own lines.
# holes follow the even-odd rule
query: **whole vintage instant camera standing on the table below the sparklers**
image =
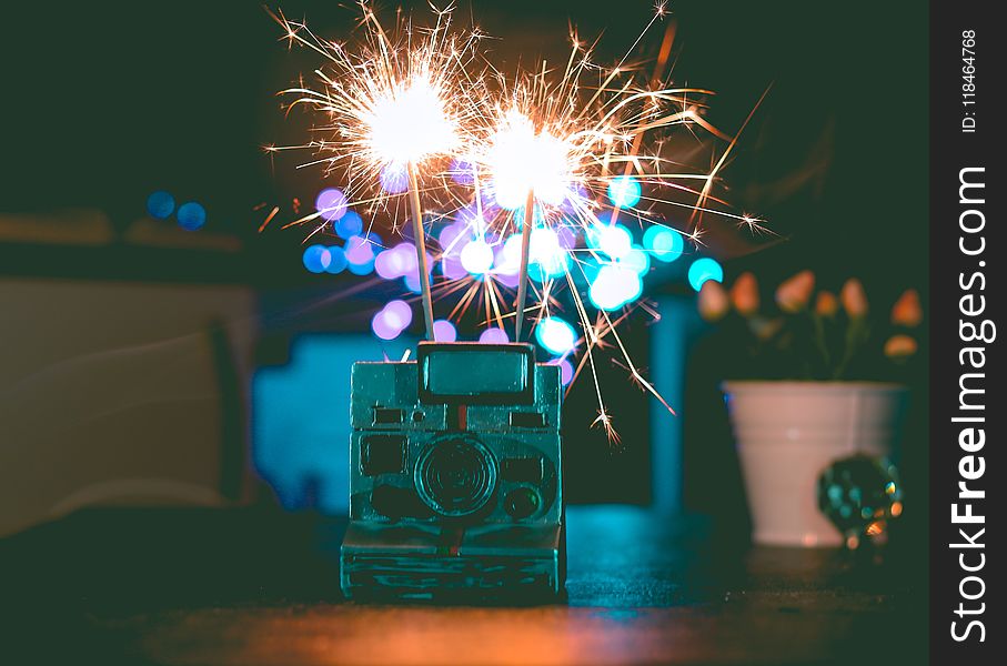
<svg viewBox="0 0 1007 666">
<path fill-rule="evenodd" d="M 352 597 L 528 598 L 565 577 L 560 369 L 527 344 L 421 342 L 350 393 Z"/>
</svg>

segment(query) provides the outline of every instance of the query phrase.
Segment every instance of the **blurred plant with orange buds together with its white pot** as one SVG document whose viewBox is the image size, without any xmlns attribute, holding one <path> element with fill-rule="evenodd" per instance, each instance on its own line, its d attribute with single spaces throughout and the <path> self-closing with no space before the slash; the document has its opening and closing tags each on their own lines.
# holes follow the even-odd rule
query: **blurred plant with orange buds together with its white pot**
<svg viewBox="0 0 1007 666">
<path fill-rule="evenodd" d="M 905 377 L 923 320 L 915 290 L 888 317 L 872 317 L 856 279 L 838 296 L 815 292 L 803 271 L 764 306 L 755 275 L 729 291 L 707 281 L 701 315 L 722 329 L 731 376 L 722 384 L 752 514 L 753 539 L 777 545 L 838 545 L 819 512 L 816 481 L 838 458 L 890 456 L 907 407 Z"/>
</svg>

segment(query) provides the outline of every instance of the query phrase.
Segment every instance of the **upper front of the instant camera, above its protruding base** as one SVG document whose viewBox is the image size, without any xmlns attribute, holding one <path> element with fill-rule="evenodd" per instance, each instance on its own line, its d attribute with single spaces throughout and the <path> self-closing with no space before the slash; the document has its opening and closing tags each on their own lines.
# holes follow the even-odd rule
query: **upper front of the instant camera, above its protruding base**
<svg viewBox="0 0 1007 666">
<path fill-rule="evenodd" d="M 527 345 L 425 343 L 417 362 L 354 364 L 351 383 L 352 519 L 560 523 L 560 369 Z"/>
</svg>

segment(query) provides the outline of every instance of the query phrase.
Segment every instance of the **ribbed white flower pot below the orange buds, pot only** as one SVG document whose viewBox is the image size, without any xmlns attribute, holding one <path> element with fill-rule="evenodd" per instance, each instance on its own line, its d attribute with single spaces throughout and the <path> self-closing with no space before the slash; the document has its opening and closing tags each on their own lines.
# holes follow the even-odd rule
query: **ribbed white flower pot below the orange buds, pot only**
<svg viewBox="0 0 1007 666">
<path fill-rule="evenodd" d="M 843 537 L 817 506 L 816 483 L 837 458 L 889 456 L 908 391 L 868 382 L 725 382 L 758 544 L 832 546 Z"/>
</svg>

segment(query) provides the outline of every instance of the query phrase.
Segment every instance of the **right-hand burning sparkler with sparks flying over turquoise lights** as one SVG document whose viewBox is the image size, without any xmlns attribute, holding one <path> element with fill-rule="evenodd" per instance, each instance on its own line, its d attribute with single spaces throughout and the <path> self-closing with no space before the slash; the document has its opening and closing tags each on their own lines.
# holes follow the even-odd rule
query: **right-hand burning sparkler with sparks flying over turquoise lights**
<svg viewBox="0 0 1007 666">
<path fill-rule="evenodd" d="M 667 32 L 671 34 L 672 30 Z M 659 72 L 671 51 L 667 36 L 662 46 L 663 60 L 644 85 L 636 82 L 638 74 L 625 64 L 626 58 L 611 69 L 594 64 L 591 49 L 575 34 L 560 75 L 550 71 L 545 62 L 533 74 L 518 77 L 510 85 L 506 77 L 495 73 L 494 88 L 500 91 L 501 101 L 483 117 L 484 139 L 474 153 L 491 174 L 486 191 L 476 188 L 475 196 L 492 199 L 503 211 L 502 220 L 496 221 L 500 235 L 505 236 L 511 224 L 516 226 L 517 219 L 522 221 L 516 335 L 520 339 L 522 334 L 530 260 L 535 258 L 540 264 L 536 282 L 541 283 L 535 307 L 536 336 L 564 359 L 583 344 L 577 373 L 585 363 L 591 365 L 598 400 L 597 423 L 613 437 L 594 372 L 594 352 L 606 346 L 606 337 L 621 352 L 622 364 L 632 380 L 671 410 L 626 352 L 616 326 L 624 317 L 611 314 L 640 296 L 641 274 L 649 263 L 634 248 L 628 231 L 617 224 L 618 215 L 634 219 L 642 226 L 659 225 L 662 222 L 653 212 L 658 204 L 683 205 L 678 200 L 661 198 L 659 192 L 644 199 L 642 184 L 647 184 L 653 190 L 692 194 L 692 211 L 741 219 L 708 205 L 716 169 L 708 173 L 673 172 L 668 169 L 672 160 L 661 154 L 659 147 L 652 148 L 644 141 L 646 134 L 682 125 L 705 128 L 715 137 L 724 137 L 702 120 L 703 99 L 712 94 L 709 91 L 664 84 Z M 592 77 L 597 78 L 593 85 L 588 81 Z M 717 169 L 723 161 L 724 157 Z M 565 244 L 558 242 L 563 232 L 583 238 L 584 246 L 568 240 Z M 699 232 L 698 226 L 693 228 L 692 238 L 697 239 Z M 511 240 L 504 242 L 504 253 L 510 243 Z M 588 276 L 588 272 L 594 276 Z M 587 295 L 596 316 L 588 313 L 578 279 L 590 284 Z M 571 337 L 568 325 L 553 315 L 561 281 L 568 287 L 583 340 Z"/>
</svg>

